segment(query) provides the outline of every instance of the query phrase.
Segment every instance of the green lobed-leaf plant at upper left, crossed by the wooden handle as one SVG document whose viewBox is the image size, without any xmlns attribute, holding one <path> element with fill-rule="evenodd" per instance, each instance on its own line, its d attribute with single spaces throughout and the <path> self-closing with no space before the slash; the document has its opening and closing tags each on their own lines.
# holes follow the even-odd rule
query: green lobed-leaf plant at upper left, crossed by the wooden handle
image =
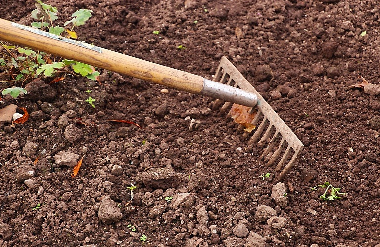
<svg viewBox="0 0 380 247">
<path fill-rule="evenodd" d="M 51 34 L 66 36 L 67 38 L 77 38 L 74 27 L 85 24 L 91 17 L 91 10 L 77 10 L 71 17 L 71 20 L 66 21 L 64 27 L 59 25 L 54 26 L 54 21 L 58 19 L 58 10 L 56 7 L 43 3 L 41 0 L 34 0 L 36 9 L 32 11 L 31 17 L 36 19 L 31 23 L 31 26 Z M 68 28 L 72 25 L 71 29 Z M 71 66 L 75 73 L 79 73 L 90 80 L 97 80 L 99 72 L 87 64 L 76 62 L 73 60 L 62 60 L 55 56 L 48 55 L 44 52 L 34 51 L 28 48 L 16 48 L 16 46 L 5 45 L 0 42 L 0 67 L 3 67 L 5 75 L 10 76 L 8 82 L 14 82 L 12 85 L 26 81 L 32 81 L 38 77 L 55 77 L 60 73 L 70 73 L 64 71 L 65 67 Z M 54 80 L 51 81 L 52 83 Z M 13 94 L 15 95 L 15 94 Z M 11 96 L 14 97 L 12 94 Z"/>
</svg>

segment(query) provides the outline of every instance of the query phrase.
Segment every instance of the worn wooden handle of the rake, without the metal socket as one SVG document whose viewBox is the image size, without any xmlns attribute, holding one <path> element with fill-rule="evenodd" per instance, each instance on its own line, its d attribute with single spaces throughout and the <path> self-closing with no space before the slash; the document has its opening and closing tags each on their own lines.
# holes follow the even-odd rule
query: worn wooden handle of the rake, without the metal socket
<svg viewBox="0 0 380 247">
<path fill-rule="evenodd" d="M 199 94 L 203 77 L 0 19 L 0 40 Z"/>
</svg>

